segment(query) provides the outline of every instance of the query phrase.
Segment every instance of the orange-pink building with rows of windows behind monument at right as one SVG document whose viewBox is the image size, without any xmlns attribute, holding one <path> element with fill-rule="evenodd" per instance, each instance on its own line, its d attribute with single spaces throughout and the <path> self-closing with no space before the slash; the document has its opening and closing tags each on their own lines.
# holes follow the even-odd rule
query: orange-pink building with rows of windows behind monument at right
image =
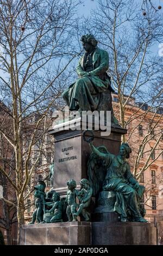
<svg viewBox="0 0 163 256">
<path fill-rule="evenodd" d="M 117 94 L 113 94 L 112 99 L 115 116 L 119 119 Z M 128 129 L 126 140 L 132 148 L 131 171 L 137 177 L 145 169 L 138 180 L 146 187 L 142 198 L 146 218 L 152 222 L 154 216 L 163 220 L 163 109 L 150 108 L 131 98 L 124 111 Z"/>
</svg>

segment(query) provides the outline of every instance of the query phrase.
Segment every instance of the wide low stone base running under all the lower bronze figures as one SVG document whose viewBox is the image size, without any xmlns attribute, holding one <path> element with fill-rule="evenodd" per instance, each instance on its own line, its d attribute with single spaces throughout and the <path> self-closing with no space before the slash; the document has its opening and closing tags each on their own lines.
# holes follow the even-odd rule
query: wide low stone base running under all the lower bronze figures
<svg viewBox="0 0 163 256">
<path fill-rule="evenodd" d="M 140 222 L 23 225 L 20 245 L 156 245 L 156 228 Z"/>
</svg>

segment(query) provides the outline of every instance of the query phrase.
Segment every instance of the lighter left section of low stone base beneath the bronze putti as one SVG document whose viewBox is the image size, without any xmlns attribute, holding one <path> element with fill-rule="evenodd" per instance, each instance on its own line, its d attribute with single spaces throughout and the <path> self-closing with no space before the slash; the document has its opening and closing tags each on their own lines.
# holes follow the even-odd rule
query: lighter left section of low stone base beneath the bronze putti
<svg viewBox="0 0 163 256">
<path fill-rule="evenodd" d="M 23 225 L 20 235 L 20 245 L 91 245 L 91 223 Z"/>
</svg>

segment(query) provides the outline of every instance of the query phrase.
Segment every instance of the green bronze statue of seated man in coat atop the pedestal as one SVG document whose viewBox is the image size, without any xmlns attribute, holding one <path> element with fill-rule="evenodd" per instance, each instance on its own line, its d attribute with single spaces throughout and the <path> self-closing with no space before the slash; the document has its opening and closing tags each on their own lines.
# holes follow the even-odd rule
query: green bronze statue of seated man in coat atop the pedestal
<svg viewBox="0 0 163 256">
<path fill-rule="evenodd" d="M 97 40 L 92 34 L 81 38 L 85 53 L 77 66 L 78 80 L 68 87 L 62 94 L 70 111 L 94 111 L 98 109 L 100 94 L 107 91 L 106 100 L 108 109 L 112 112 L 112 98 L 110 76 L 106 73 L 109 68 L 108 52 L 97 47 Z"/>
</svg>

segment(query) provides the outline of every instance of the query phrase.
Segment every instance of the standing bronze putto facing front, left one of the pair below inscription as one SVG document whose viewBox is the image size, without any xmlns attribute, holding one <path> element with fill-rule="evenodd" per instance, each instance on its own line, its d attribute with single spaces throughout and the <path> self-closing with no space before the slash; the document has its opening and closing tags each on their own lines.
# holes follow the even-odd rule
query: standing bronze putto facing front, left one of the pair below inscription
<svg viewBox="0 0 163 256">
<path fill-rule="evenodd" d="M 78 190 L 76 189 L 77 183 L 74 180 L 67 181 L 68 191 L 66 196 L 66 203 L 67 203 L 67 209 L 66 214 L 68 217 L 68 221 L 77 221 L 77 217 L 74 215 L 74 213 L 77 212 L 77 206 L 76 198 L 78 195 Z"/>
</svg>

